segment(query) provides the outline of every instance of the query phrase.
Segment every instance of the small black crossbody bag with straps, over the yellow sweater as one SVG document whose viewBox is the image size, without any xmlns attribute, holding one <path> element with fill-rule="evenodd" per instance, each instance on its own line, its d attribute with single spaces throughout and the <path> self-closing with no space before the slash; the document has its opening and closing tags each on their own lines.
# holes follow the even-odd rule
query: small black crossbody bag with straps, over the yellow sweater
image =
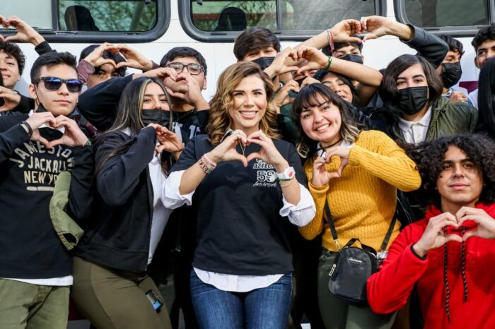
<svg viewBox="0 0 495 329">
<path fill-rule="evenodd" d="M 330 225 L 330 232 L 332 232 L 334 243 L 337 246 L 337 256 L 335 256 L 334 263 L 328 274 L 330 275 L 328 289 L 335 297 L 344 299 L 350 304 L 366 304 L 366 281 L 368 281 L 368 277 L 378 270 L 381 261 L 386 258 L 388 241 L 392 236 L 395 222 L 397 221 L 397 210 L 378 253 L 371 246 L 366 246 L 366 244 L 361 244 L 362 249 L 353 246 L 359 241 L 356 238 L 350 239 L 341 249 L 328 201 L 325 203 L 325 213 Z"/>
</svg>

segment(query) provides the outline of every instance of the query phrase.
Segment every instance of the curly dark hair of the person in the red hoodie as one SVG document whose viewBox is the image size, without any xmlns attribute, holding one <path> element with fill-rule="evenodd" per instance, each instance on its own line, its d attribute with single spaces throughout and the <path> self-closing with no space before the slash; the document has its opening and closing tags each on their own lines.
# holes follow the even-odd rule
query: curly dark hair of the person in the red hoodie
<svg viewBox="0 0 495 329">
<path fill-rule="evenodd" d="M 407 155 L 417 163 L 422 184 L 414 194 L 424 204 L 440 207 L 440 194 L 436 180 L 441 174 L 445 152 L 450 145 L 457 146 L 479 168 L 483 177 L 483 189 L 479 201 L 495 202 L 495 142 L 491 138 L 472 133 L 438 138 L 419 145 L 410 145 Z M 433 201 L 433 202 L 432 202 Z"/>
</svg>

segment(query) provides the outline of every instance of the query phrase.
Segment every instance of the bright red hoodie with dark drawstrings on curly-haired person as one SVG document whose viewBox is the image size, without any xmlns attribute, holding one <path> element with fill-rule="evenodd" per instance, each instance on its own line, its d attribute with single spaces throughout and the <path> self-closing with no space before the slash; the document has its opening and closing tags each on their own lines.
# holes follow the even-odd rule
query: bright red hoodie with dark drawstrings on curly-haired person
<svg viewBox="0 0 495 329">
<path fill-rule="evenodd" d="M 478 204 L 495 218 L 495 203 Z M 388 258 L 380 270 L 368 279 L 367 292 L 371 309 L 376 313 L 391 313 L 402 309 L 414 285 L 428 328 L 495 328 L 495 239 L 471 237 L 465 241 L 465 278 L 462 280 L 462 244 L 448 242 L 448 287 L 450 289 L 450 323 L 445 299 L 444 247 L 428 251 L 426 258 L 416 256 L 411 246 L 423 235 L 428 220 L 440 215 L 431 207 L 424 220 L 408 225 L 395 239 Z M 466 229 L 476 224 L 465 222 Z M 462 235 L 460 229 L 448 233 Z M 467 287 L 467 301 L 465 301 Z"/>
</svg>

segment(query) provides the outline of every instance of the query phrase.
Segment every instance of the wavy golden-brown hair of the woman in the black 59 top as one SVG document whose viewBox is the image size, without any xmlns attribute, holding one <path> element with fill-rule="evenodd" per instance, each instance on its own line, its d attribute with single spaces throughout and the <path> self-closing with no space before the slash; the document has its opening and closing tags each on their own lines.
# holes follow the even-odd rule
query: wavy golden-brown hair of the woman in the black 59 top
<svg viewBox="0 0 495 329">
<path fill-rule="evenodd" d="M 228 128 L 232 128 L 232 118 L 228 114 L 234 104 L 233 91 L 239 85 L 243 78 L 248 76 L 257 76 L 264 83 L 264 91 L 267 94 L 267 111 L 260 121 L 260 130 L 269 138 L 279 139 L 279 133 L 276 131 L 276 111 L 270 104 L 273 96 L 273 83 L 267 73 L 264 73 L 260 66 L 250 61 L 240 61 L 228 66 L 221 73 L 216 86 L 216 93 L 211 100 L 211 109 L 209 123 L 206 126 L 211 144 L 218 145 L 221 143 Z"/>
</svg>

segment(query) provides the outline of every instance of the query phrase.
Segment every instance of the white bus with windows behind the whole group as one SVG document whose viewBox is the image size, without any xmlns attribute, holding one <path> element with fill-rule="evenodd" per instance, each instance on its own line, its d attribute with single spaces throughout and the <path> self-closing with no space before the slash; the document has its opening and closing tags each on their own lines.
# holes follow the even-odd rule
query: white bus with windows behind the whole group
<svg viewBox="0 0 495 329">
<path fill-rule="evenodd" d="M 193 47 L 208 64 L 204 96 L 209 100 L 220 73 L 235 62 L 233 40 L 239 30 L 269 28 L 284 48 L 344 18 L 371 15 L 458 37 L 465 47 L 460 85 L 473 90 L 479 71 L 470 43 L 479 28 L 495 21 L 495 0 L 2 0 L 0 14 L 19 16 L 52 48 L 75 55 L 89 44 L 125 43 L 159 63 L 173 47 Z M 0 34 L 13 31 L 0 29 Z M 21 47 L 27 56 L 26 70 L 16 89 L 26 93 L 37 54 L 31 44 Z M 365 64 L 378 69 L 404 53 L 415 51 L 396 37 L 369 40 L 363 47 Z M 88 326 L 88 321 L 69 321 L 71 329 Z"/>
</svg>

